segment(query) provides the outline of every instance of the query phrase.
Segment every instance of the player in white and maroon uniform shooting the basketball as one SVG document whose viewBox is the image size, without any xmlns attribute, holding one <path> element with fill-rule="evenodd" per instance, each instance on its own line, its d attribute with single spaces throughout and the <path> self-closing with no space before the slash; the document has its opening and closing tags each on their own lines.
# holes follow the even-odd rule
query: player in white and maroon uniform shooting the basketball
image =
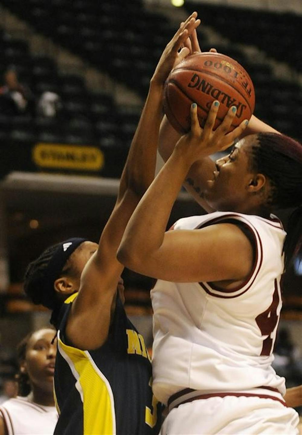
<svg viewBox="0 0 302 435">
<path fill-rule="evenodd" d="M 161 434 L 297 434 L 298 414 L 287 408 L 284 378 L 271 362 L 284 260 L 287 266 L 301 241 L 302 146 L 252 134 L 214 163 L 208 156 L 245 127 L 226 134 L 231 107 L 213 131 L 218 106 L 202 130 L 192 104 L 191 132 L 136 208 L 118 258 L 161 280 L 152 291 L 153 388 L 168 406 Z M 165 232 L 190 168 L 198 168 L 202 197 L 217 212 Z M 287 235 L 276 207 L 299 207 Z"/>
</svg>

